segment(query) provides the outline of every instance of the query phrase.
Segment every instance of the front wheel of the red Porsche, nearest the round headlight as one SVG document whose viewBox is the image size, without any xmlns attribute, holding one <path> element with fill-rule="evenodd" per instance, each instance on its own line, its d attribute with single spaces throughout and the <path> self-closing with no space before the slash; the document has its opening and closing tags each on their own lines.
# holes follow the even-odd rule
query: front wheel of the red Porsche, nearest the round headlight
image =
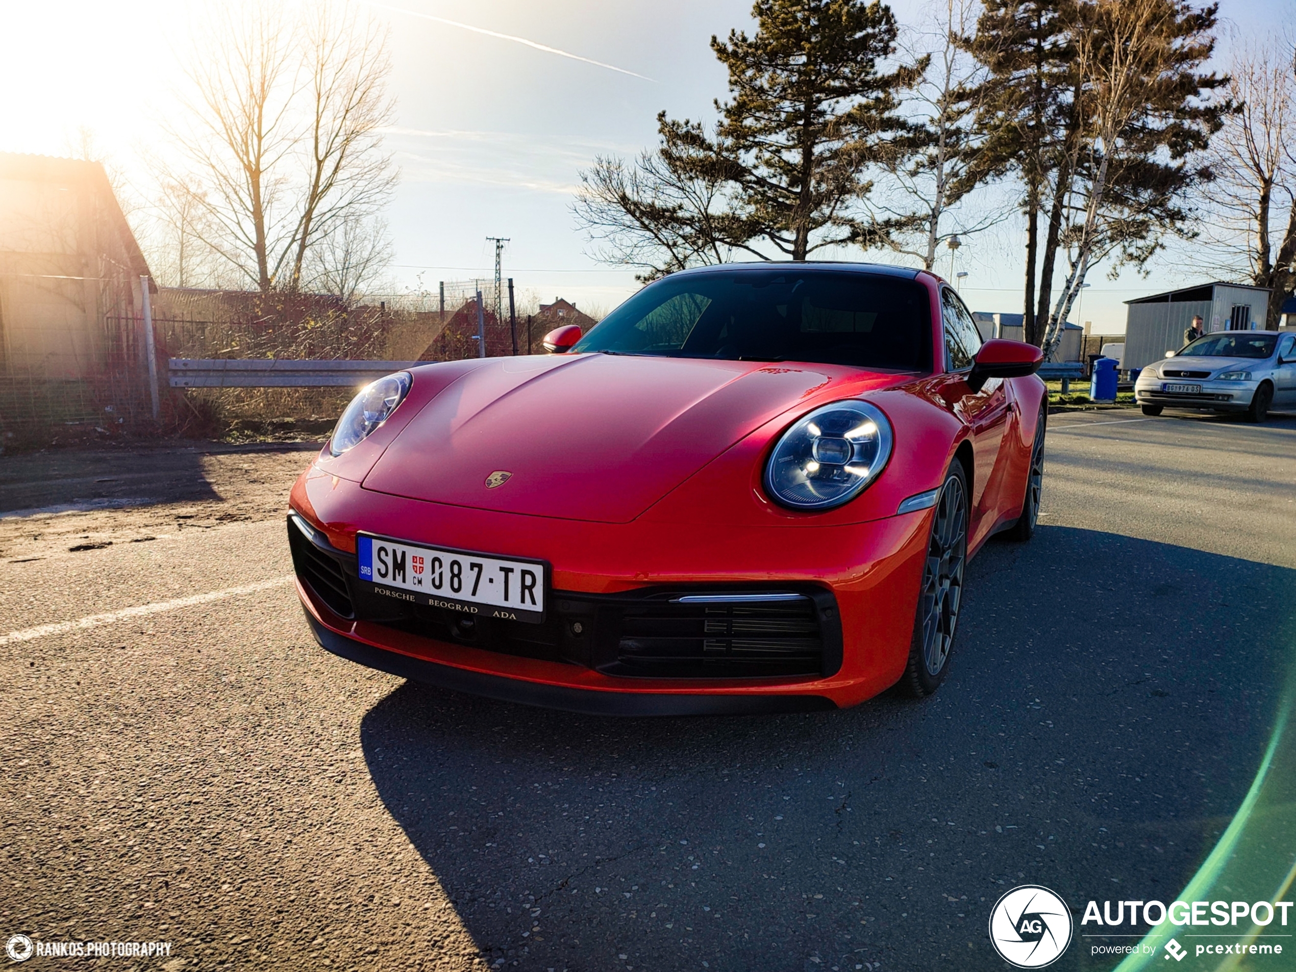
<svg viewBox="0 0 1296 972">
<path fill-rule="evenodd" d="M 914 638 L 901 678 L 906 695 L 921 699 L 945 680 L 950 652 L 963 607 L 963 572 L 968 555 L 968 482 L 963 464 L 955 461 L 945 474 L 936 498 L 927 557 L 918 592 Z"/>
</svg>

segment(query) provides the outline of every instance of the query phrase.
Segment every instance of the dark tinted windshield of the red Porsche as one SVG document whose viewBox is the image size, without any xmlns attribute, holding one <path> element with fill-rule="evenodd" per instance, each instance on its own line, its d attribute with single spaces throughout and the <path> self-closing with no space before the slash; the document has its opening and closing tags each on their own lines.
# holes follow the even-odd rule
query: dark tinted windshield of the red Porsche
<svg viewBox="0 0 1296 972">
<path fill-rule="evenodd" d="M 717 270 L 658 280 L 573 349 L 932 369 L 927 288 L 832 270 Z"/>
</svg>

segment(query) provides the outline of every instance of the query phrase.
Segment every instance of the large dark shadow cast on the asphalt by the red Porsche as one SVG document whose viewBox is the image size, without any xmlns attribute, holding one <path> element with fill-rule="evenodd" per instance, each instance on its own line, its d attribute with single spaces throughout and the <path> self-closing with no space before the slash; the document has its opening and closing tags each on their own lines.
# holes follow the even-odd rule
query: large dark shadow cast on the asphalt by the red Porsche
<svg viewBox="0 0 1296 972">
<path fill-rule="evenodd" d="M 1273 728 L 1296 570 L 1042 526 L 967 591 L 921 702 L 619 721 L 404 683 L 363 752 L 492 967 L 1002 968 L 1013 885 L 1077 932 L 1183 888 Z M 1090 941 L 1056 967 L 1108 968 Z"/>
</svg>

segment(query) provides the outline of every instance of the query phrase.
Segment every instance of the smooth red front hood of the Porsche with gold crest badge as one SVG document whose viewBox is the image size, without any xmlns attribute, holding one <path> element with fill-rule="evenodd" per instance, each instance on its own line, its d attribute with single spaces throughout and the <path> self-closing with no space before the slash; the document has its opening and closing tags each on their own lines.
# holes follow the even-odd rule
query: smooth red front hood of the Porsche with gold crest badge
<svg viewBox="0 0 1296 972">
<path fill-rule="evenodd" d="M 491 359 L 424 407 L 364 489 L 627 522 L 753 429 L 846 377 L 859 386 L 858 371 L 829 365 L 604 354 Z M 879 375 L 874 384 L 901 380 Z"/>
</svg>

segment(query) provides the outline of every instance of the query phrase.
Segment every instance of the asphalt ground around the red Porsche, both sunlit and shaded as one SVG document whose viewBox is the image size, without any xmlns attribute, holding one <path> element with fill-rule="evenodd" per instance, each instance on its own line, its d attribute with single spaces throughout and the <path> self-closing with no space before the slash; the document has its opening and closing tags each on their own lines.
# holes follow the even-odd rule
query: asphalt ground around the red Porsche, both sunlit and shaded
<svg viewBox="0 0 1296 972">
<path fill-rule="evenodd" d="M 0 513 L 0 937 L 171 941 L 170 969 L 998 969 L 1016 884 L 1170 901 L 1296 642 L 1296 419 L 1056 415 L 1047 450 L 1042 526 L 969 566 L 933 699 L 660 721 L 319 649 L 283 583 L 302 452 L 141 454 L 113 489 L 148 503 L 87 513 L 49 508 L 113 500 L 108 460 L 6 457 L 0 509 L 45 512 Z M 1112 964 L 1077 940 L 1055 968 Z"/>
</svg>

